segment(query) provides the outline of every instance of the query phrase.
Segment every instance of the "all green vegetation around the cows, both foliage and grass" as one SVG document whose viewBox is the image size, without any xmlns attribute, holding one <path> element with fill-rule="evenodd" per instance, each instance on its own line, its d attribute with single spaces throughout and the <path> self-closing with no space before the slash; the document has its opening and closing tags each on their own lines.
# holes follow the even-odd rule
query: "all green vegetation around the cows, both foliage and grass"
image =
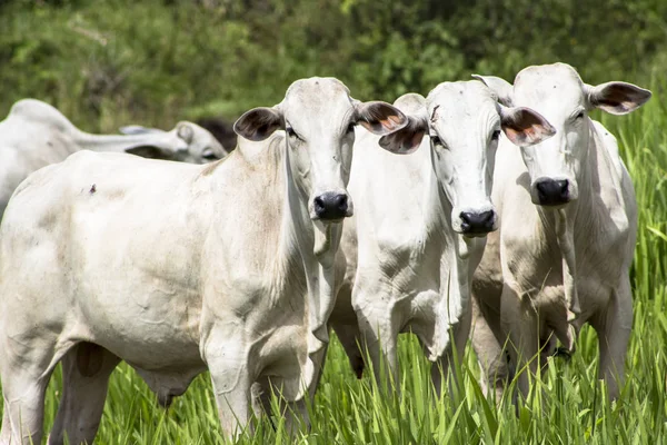
<svg viewBox="0 0 667 445">
<path fill-rule="evenodd" d="M 217 116 L 281 100 L 306 76 L 336 76 L 360 99 L 392 101 L 471 72 L 511 80 L 530 63 L 566 61 L 589 83 L 627 80 L 654 99 L 626 117 L 596 115 L 619 138 L 640 207 L 628 382 L 609 405 L 584 329 L 517 409 L 481 396 L 470 349 L 459 390 L 435 399 L 414 339 L 400 344 L 401 396 L 357 380 L 334 342 L 305 444 L 667 443 L 667 2 L 663 0 L 4 0 L 0 116 L 47 100 L 90 131 Z M 47 400 L 47 431 L 60 393 Z M 0 406 L 0 411 L 1 411 Z M 273 428 L 276 427 L 276 429 Z M 267 419 L 242 444 L 282 444 Z M 99 444 L 222 443 L 208 376 L 169 411 L 127 366 L 111 378 Z"/>
</svg>

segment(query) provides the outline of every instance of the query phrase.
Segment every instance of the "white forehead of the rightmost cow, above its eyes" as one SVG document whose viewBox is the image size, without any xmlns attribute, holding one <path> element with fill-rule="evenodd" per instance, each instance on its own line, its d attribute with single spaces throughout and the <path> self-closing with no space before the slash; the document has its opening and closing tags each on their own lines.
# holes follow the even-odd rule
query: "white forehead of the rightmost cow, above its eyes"
<svg viewBox="0 0 667 445">
<path fill-rule="evenodd" d="M 569 112 L 584 100 L 584 82 L 566 63 L 528 67 L 515 79 L 515 106 L 531 107 L 542 113 L 556 109 Z"/>
</svg>

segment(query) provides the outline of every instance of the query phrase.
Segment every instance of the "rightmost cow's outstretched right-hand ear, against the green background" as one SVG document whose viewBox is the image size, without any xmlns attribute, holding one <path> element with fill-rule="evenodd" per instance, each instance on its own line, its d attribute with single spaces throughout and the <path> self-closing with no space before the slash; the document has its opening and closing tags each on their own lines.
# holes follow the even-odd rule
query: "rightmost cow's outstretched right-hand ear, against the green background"
<svg viewBox="0 0 667 445">
<path fill-rule="evenodd" d="M 627 82 L 585 85 L 587 108 L 599 108 L 611 115 L 627 115 L 650 99 L 651 92 Z"/>
</svg>

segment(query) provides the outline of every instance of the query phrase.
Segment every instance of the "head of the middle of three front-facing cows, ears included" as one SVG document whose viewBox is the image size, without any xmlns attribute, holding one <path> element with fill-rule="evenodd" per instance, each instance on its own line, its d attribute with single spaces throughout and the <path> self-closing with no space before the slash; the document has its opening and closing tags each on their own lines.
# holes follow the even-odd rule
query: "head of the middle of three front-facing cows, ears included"
<svg viewBox="0 0 667 445">
<path fill-rule="evenodd" d="M 410 122 L 385 136 L 380 145 L 402 144 L 401 151 L 409 152 L 419 146 L 420 135 L 430 134 L 432 168 L 451 202 L 451 226 L 471 237 L 497 228 L 490 194 L 500 131 L 519 146 L 554 134 L 537 112 L 498 105 L 492 92 L 478 81 L 444 82 L 426 100 L 406 95 L 395 105 Z"/>
</svg>

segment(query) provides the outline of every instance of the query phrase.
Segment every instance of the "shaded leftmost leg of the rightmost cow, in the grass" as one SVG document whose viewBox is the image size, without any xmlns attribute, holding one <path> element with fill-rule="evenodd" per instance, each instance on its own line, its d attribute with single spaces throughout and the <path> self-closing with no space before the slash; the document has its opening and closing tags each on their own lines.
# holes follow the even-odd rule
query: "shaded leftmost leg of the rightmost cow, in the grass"
<svg viewBox="0 0 667 445">
<path fill-rule="evenodd" d="M 472 298 L 471 304 L 472 333 L 470 337 L 481 369 L 480 386 L 487 397 L 489 392 L 494 390 L 496 404 L 499 404 L 505 386 L 510 378 L 505 345 L 498 342 L 499 337 L 504 337 L 499 330 L 500 325 L 496 323 L 498 332 L 495 333 L 492 324 L 492 320 L 500 320 L 500 315 L 486 307 L 484 303 L 477 301 L 477 298 Z"/>
</svg>

